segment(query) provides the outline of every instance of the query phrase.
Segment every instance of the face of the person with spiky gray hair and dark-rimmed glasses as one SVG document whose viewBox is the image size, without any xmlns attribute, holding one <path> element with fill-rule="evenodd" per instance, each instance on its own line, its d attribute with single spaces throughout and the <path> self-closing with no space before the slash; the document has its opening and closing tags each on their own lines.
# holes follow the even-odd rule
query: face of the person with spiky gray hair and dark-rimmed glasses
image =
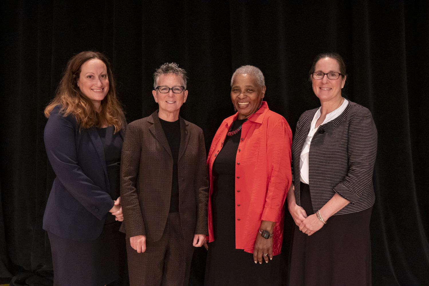
<svg viewBox="0 0 429 286">
<path fill-rule="evenodd" d="M 157 86 L 161 85 L 172 88 L 173 86 L 184 86 L 184 83 L 174 73 L 167 73 L 158 77 Z M 180 107 L 186 101 L 187 93 L 187 90 L 183 90 L 181 93 L 173 93 L 171 89 L 168 93 L 161 93 L 158 89 L 153 90 L 155 102 L 159 105 L 159 118 L 166 121 L 176 121 Z"/>
</svg>

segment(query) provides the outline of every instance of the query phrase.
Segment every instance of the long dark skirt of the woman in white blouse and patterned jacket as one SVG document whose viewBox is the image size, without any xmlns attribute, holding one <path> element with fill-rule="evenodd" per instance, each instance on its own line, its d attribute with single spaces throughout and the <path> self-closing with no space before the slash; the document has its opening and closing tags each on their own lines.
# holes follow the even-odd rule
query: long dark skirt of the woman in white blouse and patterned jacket
<svg viewBox="0 0 429 286">
<path fill-rule="evenodd" d="M 301 206 L 313 214 L 310 189 L 301 183 Z M 331 216 L 311 236 L 295 226 L 290 261 L 290 286 L 371 285 L 371 240 L 369 221 L 372 207 Z"/>
</svg>

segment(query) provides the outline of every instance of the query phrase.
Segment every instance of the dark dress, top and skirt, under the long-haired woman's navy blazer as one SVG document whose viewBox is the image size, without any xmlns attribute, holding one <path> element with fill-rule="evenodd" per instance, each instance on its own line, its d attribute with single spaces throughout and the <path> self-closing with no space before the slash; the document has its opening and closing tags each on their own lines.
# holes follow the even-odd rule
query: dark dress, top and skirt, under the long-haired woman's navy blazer
<svg viewBox="0 0 429 286">
<path fill-rule="evenodd" d="M 97 129 L 106 157 L 110 195 L 119 196 L 119 168 L 123 140 L 115 127 Z M 54 283 L 57 285 L 129 285 L 125 234 L 111 213 L 100 236 L 93 241 L 73 241 L 48 232 L 51 241 Z M 109 284 L 110 283 L 110 284 Z"/>
</svg>

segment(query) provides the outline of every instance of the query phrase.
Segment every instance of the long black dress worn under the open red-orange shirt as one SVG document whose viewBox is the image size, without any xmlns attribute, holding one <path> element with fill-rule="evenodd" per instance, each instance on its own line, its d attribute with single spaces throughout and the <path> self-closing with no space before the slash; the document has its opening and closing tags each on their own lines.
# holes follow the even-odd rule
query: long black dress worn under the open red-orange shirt
<svg viewBox="0 0 429 286">
<path fill-rule="evenodd" d="M 245 120 L 236 120 L 240 126 Z M 226 137 L 212 168 L 211 210 L 215 241 L 208 243 L 205 286 L 280 285 L 280 259 L 255 264 L 253 254 L 236 249 L 235 162 L 241 131 Z"/>
</svg>

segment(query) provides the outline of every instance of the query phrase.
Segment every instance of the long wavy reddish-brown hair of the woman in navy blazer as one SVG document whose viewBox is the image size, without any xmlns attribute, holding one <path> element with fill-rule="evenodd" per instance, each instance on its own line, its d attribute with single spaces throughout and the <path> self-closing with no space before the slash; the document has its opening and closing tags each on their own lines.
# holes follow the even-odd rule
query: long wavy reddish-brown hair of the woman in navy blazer
<svg viewBox="0 0 429 286">
<path fill-rule="evenodd" d="M 85 96 L 77 85 L 82 64 L 92 59 L 99 59 L 106 64 L 109 91 L 101 101 L 101 110 L 96 112 L 91 100 Z M 67 64 L 66 71 L 60 81 L 57 94 L 46 106 L 45 116 L 48 118 L 55 106 L 61 105 L 63 116 L 73 114 L 81 128 L 93 126 L 115 125 L 115 133 L 124 128 L 125 116 L 121 103 L 116 97 L 115 80 L 109 60 L 100 52 L 85 51 L 73 56 Z"/>
</svg>

